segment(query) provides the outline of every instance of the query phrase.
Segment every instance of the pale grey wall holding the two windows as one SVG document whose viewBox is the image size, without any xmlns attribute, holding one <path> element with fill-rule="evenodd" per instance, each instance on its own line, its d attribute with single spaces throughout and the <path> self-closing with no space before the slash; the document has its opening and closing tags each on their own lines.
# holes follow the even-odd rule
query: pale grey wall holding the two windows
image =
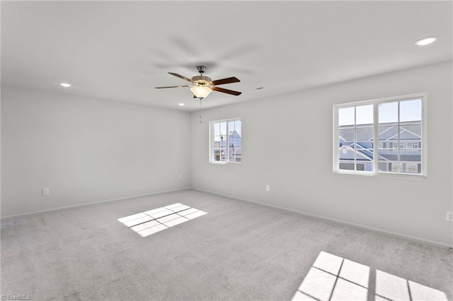
<svg viewBox="0 0 453 301">
<path fill-rule="evenodd" d="M 452 79 L 450 61 L 203 110 L 202 124 L 193 112 L 192 187 L 452 246 Z M 420 92 L 428 93 L 428 179 L 333 174 L 334 104 Z M 243 163 L 212 165 L 209 121 L 232 117 L 242 118 Z"/>
</svg>

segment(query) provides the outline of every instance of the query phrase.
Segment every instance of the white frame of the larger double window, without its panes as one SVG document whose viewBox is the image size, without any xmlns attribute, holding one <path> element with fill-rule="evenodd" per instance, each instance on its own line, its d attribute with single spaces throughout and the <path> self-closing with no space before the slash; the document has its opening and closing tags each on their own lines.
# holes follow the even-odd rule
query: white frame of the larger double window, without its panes
<svg viewBox="0 0 453 301">
<path fill-rule="evenodd" d="M 362 171 L 362 170 L 340 170 L 340 160 L 338 155 L 338 146 L 340 143 L 338 135 L 338 111 L 339 109 L 346 107 L 360 107 L 362 105 L 373 105 L 373 153 L 379 153 L 379 138 L 376 140 L 375 137 L 379 137 L 379 104 L 385 102 L 402 102 L 405 100 L 415 100 L 421 99 L 421 141 L 418 141 L 418 146 L 421 151 L 421 171 L 420 174 L 411 174 L 406 172 L 383 172 L 379 171 L 379 160 L 375 160 L 373 156 L 373 170 L 372 171 Z M 428 124 L 428 93 L 415 93 L 410 95 L 401 95 L 394 96 L 389 98 L 378 98 L 373 100 L 362 100 L 357 102 L 345 102 L 333 105 L 333 173 L 338 174 L 349 174 L 349 175 L 366 175 L 366 176 L 379 176 L 379 177 L 407 177 L 415 179 L 426 179 L 428 177 L 428 168 L 427 168 L 427 145 L 428 145 L 428 136 L 427 136 L 427 124 Z M 398 124 L 400 121 L 398 120 Z M 376 143 L 377 142 L 377 143 Z M 400 141 L 401 143 L 402 141 Z M 420 147 L 421 143 L 421 147 Z M 393 144 L 392 144 L 393 147 Z M 394 148 L 389 148 L 387 145 L 386 148 L 392 150 Z M 403 161 L 398 161 L 400 164 Z"/>
</svg>

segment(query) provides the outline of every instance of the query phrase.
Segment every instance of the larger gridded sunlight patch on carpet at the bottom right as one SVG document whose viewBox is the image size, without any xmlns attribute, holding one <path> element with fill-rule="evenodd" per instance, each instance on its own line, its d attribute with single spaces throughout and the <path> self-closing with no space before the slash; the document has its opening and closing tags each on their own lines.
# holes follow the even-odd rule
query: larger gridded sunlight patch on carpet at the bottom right
<svg viewBox="0 0 453 301">
<path fill-rule="evenodd" d="M 319 253 L 292 300 L 366 301 L 369 266 L 343 257 Z M 445 293 L 404 278 L 376 270 L 375 300 L 447 300 Z"/>
</svg>

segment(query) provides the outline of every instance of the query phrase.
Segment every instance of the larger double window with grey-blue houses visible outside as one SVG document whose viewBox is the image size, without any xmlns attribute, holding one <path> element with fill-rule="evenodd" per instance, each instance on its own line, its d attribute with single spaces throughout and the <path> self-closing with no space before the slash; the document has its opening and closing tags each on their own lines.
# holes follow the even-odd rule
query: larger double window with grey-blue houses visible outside
<svg viewBox="0 0 453 301">
<path fill-rule="evenodd" d="M 426 95 L 334 105 L 333 171 L 426 176 Z"/>
</svg>

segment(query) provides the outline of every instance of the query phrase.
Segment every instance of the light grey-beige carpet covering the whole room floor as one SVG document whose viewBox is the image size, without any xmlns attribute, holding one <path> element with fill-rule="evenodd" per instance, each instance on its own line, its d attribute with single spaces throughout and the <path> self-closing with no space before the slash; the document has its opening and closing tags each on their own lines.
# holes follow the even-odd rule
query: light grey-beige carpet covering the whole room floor
<svg viewBox="0 0 453 301">
<path fill-rule="evenodd" d="M 174 203 L 207 214 L 146 237 L 118 220 Z M 333 273 L 338 285 L 362 275 L 358 290 L 367 300 L 390 298 L 386 287 L 398 289 L 401 279 L 415 283 L 413 290 L 421 285 L 453 300 L 448 250 L 193 190 L 2 220 L 1 294 L 31 300 L 291 300 L 297 292 L 316 292 L 306 283 L 313 282 L 311 269 L 323 271 L 316 266 L 320 254 L 335 256 L 327 266 L 333 258 L 343 260 L 338 276 Z M 352 271 L 360 267 L 357 273 L 343 266 L 351 262 Z"/>
</svg>

